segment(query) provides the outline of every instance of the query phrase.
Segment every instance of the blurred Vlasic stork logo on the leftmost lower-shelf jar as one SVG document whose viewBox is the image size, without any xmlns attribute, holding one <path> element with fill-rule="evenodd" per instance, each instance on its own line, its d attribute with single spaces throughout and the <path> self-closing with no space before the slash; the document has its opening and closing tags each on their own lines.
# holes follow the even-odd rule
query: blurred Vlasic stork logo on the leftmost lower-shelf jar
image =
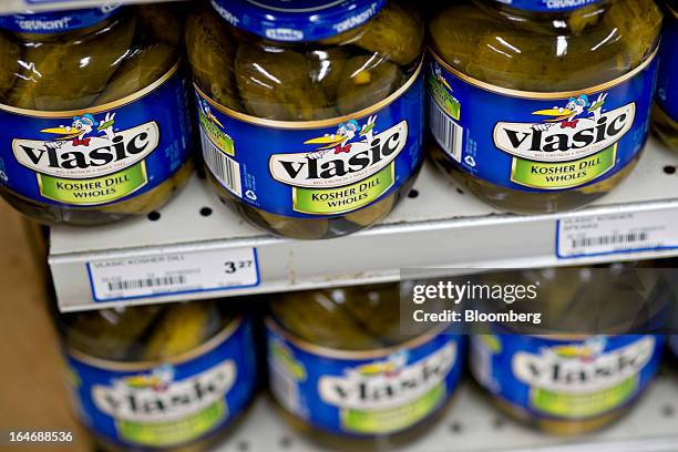
<svg viewBox="0 0 678 452">
<path fill-rule="evenodd" d="M 92 387 L 92 399 L 102 412 L 132 422 L 176 421 L 223 400 L 236 378 L 230 360 L 184 380 L 173 369 L 113 380 Z"/>
</svg>

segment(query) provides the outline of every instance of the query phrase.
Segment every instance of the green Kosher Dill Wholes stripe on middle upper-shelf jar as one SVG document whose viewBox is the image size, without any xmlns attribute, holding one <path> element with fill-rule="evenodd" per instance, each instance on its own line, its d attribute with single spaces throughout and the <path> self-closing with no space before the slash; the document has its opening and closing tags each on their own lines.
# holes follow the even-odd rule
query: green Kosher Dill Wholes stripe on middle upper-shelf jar
<svg viewBox="0 0 678 452">
<path fill-rule="evenodd" d="M 292 206 L 304 214 L 330 215 L 356 210 L 378 199 L 393 186 L 394 163 L 379 173 L 340 188 L 292 187 Z"/>
</svg>

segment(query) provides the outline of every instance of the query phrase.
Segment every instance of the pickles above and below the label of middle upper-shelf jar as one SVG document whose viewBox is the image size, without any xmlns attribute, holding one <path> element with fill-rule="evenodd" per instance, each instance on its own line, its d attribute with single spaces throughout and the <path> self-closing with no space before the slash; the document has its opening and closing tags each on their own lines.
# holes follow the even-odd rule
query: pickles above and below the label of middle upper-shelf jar
<svg viewBox="0 0 678 452">
<path fill-rule="evenodd" d="M 285 42 L 233 27 L 206 7 L 187 19 L 185 41 L 196 89 L 229 109 L 229 116 L 329 123 L 379 104 L 410 81 L 420 66 L 424 24 L 410 8 L 389 1 L 347 32 Z M 236 153 L 249 152 L 237 138 L 233 146 Z M 301 218 L 246 204 L 217 178 L 209 179 L 224 204 L 251 224 L 297 239 L 333 238 L 368 227 L 390 213 L 414 182 L 411 177 L 394 194 L 352 212 Z"/>
</svg>

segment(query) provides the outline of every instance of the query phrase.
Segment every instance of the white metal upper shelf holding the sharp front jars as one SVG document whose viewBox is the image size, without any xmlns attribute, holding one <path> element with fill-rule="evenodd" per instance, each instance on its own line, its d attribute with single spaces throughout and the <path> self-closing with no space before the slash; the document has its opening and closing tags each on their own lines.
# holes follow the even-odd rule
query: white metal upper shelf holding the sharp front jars
<svg viewBox="0 0 678 452">
<path fill-rule="evenodd" d="M 677 248 L 559 259 L 555 248 L 558 219 L 615 214 L 649 212 L 662 220 L 676 215 L 669 222 L 674 230 L 666 235 L 678 239 L 678 173 L 665 171 L 676 164 L 678 157 L 651 140 L 633 175 L 610 195 L 574 213 L 535 216 L 496 212 L 458 192 L 448 177 L 428 165 L 415 185 L 418 196 L 405 198 L 383 223 L 348 237 L 317 242 L 274 238 L 253 228 L 224 208 L 207 184 L 194 176 L 155 222 L 136 218 L 93 229 L 53 228 L 50 266 L 60 307 L 79 310 L 397 280 L 401 268 L 522 268 L 675 256 Z M 203 207 L 209 207 L 212 215 L 202 216 Z M 193 260 L 204 256 L 207 261 L 251 248 L 258 260 L 255 287 L 93 300 L 88 263 L 174 254 Z"/>
</svg>

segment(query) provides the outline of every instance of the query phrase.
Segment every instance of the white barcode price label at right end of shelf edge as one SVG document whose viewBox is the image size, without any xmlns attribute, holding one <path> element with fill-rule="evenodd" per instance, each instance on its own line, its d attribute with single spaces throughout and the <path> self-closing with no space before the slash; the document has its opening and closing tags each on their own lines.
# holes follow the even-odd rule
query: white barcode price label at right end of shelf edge
<svg viewBox="0 0 678 452">
<path fill-rule="evenodd" d="M 561 259 L 675 248 L 676 209 L 584 215 L 559 219 L 556 225 L 556 255 Z"/>
</svg>

